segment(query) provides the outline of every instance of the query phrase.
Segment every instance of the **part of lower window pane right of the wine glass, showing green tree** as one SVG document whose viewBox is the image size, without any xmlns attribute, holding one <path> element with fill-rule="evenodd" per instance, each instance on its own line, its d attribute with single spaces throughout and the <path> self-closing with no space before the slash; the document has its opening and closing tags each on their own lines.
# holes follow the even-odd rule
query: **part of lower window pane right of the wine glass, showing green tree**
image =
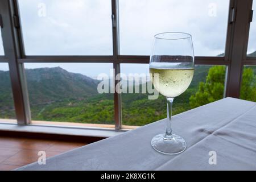
<svg viewBox="0 0 256 182">
<path fill-rule="evenodd" d="M 196 65 L 191 85 L 176 99 L 181 102 L 178 113 L 224 98 L 225 75 L 224 65 Z"/>
</svg>

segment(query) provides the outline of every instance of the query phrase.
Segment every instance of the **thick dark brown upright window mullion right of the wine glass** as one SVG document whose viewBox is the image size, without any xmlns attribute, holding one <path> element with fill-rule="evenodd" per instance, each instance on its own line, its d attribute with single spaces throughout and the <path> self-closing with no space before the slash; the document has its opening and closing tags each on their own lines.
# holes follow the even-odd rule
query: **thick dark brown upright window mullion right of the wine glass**
<svg viewBox="0 0 256 182">
<path fill-rule="evenodd" d="M 242 78 L 243 60 L 246 59 L 247 41 L 249 38 L 250 10 L 252 0 L 232 1 L 235 19 L 228 31 L 225 59 L 230 60 L 226 74 L 226 97 L 240 97 L 240 85 Z M 230 9 L 232 8 L 230 7 Z M 231 15 L 230 15 L 231 16 Z M 229 17 L 230 19 L 231 17 Z"/>
</svg>

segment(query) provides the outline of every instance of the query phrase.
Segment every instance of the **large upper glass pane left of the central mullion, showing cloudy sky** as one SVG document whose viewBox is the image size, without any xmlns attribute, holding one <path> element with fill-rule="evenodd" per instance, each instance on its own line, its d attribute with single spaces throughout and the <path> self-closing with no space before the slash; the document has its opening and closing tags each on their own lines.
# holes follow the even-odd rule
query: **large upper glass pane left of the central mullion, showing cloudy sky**
<svg viewBox="0 0 256 182">
<path fill-rule="evenodd" d="M 112 55 L 110 0 L 22 0 L 26 55 Z"/>
</svg>

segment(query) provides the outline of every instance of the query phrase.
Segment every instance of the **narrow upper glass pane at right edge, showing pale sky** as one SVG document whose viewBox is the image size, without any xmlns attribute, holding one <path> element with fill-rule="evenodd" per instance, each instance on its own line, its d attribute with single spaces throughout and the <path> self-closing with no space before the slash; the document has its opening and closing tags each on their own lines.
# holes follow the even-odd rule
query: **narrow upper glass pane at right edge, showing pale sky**
<svg viewBox="0 0 256 182">
<path fill-rule="evenodd" d="M 256 56 L 256 2 L 253 1 L 253 22 L 250 24 L 249 42 L 247 48 L 247 56 Z"/>
</svg>

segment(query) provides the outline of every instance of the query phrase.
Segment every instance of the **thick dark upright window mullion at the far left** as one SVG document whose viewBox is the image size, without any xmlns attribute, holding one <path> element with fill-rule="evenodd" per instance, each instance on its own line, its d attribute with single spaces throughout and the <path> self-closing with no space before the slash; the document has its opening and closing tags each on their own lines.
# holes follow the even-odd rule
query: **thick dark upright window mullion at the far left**
<svg viewBox="0 0 256 182">
<path fill-rule="evenodd" d="M 0 1 L 0 13 L 3 27 L 2 38 L 5 56 L 9 62 L 11 86 L 13 89 L 14 106 L 18 124 L 30 123 L 30 106 L 28 102 L 26 80 L 23 64 L 18 64 L 18 58 L 23 55 L 22 39 L 19 27 L 14 25 L 14 16 L 18 15 L 16 1 Z"/>
</svg>

